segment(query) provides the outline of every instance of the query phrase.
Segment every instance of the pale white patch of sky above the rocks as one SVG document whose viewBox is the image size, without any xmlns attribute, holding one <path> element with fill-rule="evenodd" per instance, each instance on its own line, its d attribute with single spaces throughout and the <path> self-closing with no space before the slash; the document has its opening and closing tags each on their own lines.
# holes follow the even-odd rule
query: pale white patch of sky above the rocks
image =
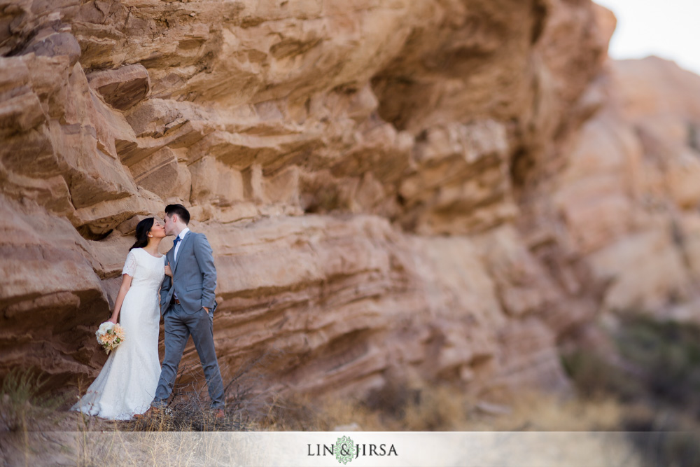
<svg viewBox="0 0 700 467">
<path fill-rule="evenodd" d="M 700 0 L 595 1 L 617 17 L 610 57 L 657 55 L 700 74 Z"/>
</svg>

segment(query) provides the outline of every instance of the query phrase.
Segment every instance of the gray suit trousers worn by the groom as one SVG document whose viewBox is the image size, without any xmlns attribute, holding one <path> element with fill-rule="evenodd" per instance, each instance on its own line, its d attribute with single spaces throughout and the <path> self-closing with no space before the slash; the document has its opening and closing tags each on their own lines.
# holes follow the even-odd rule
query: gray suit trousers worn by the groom
<svg viewBox="0 0 700 467">
<path fill-rule="evenodd" d="M 165 407 L 175 384 L 177 368 L 182 359 L 190 335 L 200 356 L 204 377 L 207 378 L 211 408 L 224 405 L 223 382 L 214 351 L 214 312 L 200 309 L 187 313 L 182 305 L 173 303 L 163 315 L 165 321 L 165 358 L 160 370 L 158 389 L 155 390 L 153 407 Z"/>
</svg>

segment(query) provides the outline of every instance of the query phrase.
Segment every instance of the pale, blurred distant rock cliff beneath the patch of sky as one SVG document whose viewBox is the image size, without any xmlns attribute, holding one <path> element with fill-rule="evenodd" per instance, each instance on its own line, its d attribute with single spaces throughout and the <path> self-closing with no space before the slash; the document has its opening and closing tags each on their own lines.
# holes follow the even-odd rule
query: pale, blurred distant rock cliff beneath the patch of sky
<svg viewBox="0 0 700 467">
<path fill-rule="evenodd" d="M 610 281 L 604 310 L 690 304 L 697 319 L 700 77 L 652 57 L 610 64 L 608 80 L 610 102 L 573 139 L 554 188 L 566 242 Z"/>
</svg>

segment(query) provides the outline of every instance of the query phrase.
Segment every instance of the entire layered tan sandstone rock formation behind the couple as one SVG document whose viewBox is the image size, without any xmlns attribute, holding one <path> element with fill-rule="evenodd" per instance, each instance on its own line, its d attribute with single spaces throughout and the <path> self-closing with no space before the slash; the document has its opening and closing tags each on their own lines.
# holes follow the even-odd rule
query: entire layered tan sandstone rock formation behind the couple
<svg viewBox="0 0 700 467">
<path fill-rule="evenodd" d="M 278 391 L 561 389 L 598 312 L 694 313 L 700 78 L 610 62 L 589 1 L 5 0 L 0 25 L 0 376 L 97 375 L 169 202 L 216 255 L 220 362 L 274 356 Z"/>
</svg>

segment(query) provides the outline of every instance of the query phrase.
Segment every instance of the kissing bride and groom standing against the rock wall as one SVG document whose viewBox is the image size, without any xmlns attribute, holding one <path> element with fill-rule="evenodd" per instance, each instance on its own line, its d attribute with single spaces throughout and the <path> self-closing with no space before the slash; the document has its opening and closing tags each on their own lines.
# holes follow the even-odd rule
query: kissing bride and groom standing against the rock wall
<svg viewBox="0 0 700 467">
<path fill-rule="evenodd" d="M 160 413 L 191 335 L 207 379 L 211 409 L 216 418 L 224 417 L 223 382 L 214 351 L 214 256 L 207 237 L 192 232 L 189 222 L 190 213 L 182 204 L 169 204 L 163 224 L 151 217 L 137 225 L 137 241 L 127 254 L 109 319 L 112 323 L 120 319 L 125 340 L 71 410 L 115 420 Z M 168 235 L 175 236 L 173 247 L 160 255 L 158 247 Z M 165 323 L 162 369 L 160 316 Z"/>
</svg>

